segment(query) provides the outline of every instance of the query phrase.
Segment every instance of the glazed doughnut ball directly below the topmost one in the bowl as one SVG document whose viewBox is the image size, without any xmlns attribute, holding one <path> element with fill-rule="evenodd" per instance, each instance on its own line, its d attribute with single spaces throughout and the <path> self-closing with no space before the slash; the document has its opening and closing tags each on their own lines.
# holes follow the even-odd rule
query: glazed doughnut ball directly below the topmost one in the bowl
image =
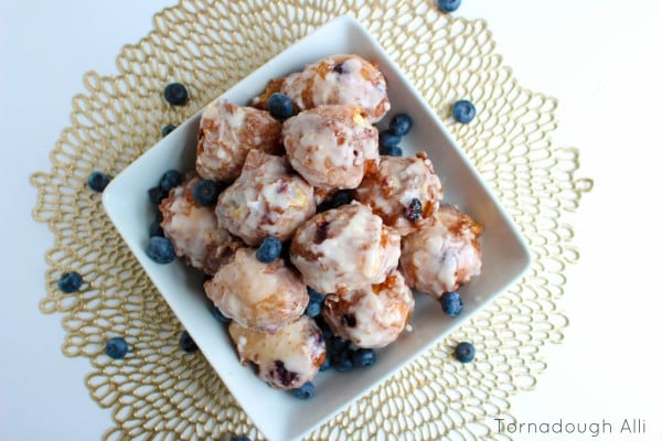
<svg viewBox="0 0 662 441">
<path fill-rule="evenodd" d="M 282 142 L 292 168 L 314 186 L 359 186 L 369 161 L 380 161 L 377 129 L 362 111 L 353 106 L 323 106 L 288 119 Z"/>
</svg>

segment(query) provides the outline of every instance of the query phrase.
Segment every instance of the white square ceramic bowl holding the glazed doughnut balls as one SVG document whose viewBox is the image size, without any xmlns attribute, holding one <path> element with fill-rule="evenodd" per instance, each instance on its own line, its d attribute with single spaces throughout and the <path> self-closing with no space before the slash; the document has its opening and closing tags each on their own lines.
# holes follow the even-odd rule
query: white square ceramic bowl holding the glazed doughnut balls
<svg viewBox="0 0 662 441">
<path fill-rule="evenodd" d="M 425 150 L 445 185 L 445 202 L 457 204 L 484 226 L 482 275 L 462 288 L 465 310 L 461 316 L 449 319 L 431 299 L 417 294 L 410 320 L 413 331 L 403 333 L 394 344 L 378 351 L 376 365 L 345 374 L 321 373 L 314 380 L 316 398 L 301 401 L 291 394 L 269 388 L 253 369 L 239 364 L 229 336 L 210 314 L 201 278 L 195 271 L 179 260 L 170 265 L 156 263 L 145 252 L 148 225 L 153 216 L 147 190 L 167 170 L 194 169 L 201 112 L 135 161 L 104 192 L 108 216 L 154 286 L 253 422 L 274 441 L 303 437 L 378 386 L 508 289 L 527 269 L 531 260 L 524 239 L 461 149 L 420 94 L 354 18 L 340 17 L 329 22 L 223 96 L 246 105 L 264 90 L 269 79 L 340 53 L 360 54 L 377 63 L 386 76 L 392 103 L 392 110 L 384 121 L 398 111 L 408 112 L 415 121 L 412 132 L 403 139 L 405 154 Z"/>
</svg>

